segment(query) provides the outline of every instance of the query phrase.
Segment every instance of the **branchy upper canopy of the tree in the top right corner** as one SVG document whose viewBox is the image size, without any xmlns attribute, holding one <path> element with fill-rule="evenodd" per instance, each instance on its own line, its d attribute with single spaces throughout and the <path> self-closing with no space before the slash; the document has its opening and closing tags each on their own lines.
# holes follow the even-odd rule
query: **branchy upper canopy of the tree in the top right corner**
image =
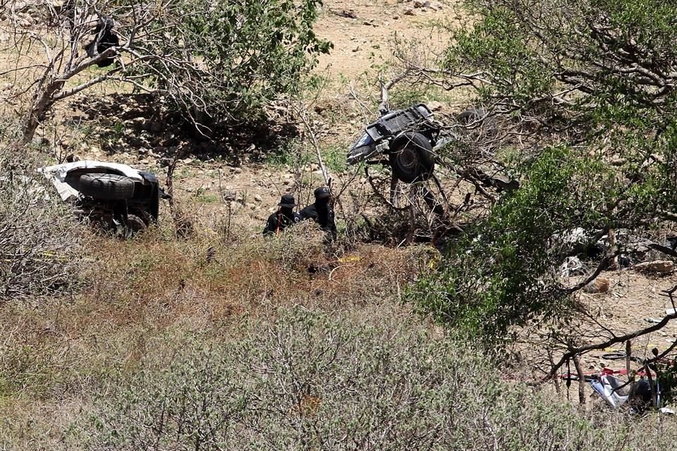
<svg viewBox="0 0 677 451">
<path fill-rule="evenodd" d="M 482 73 L 485 100 L 511 99 L 550 125 L 604 133 L 614 123 L 661 121 L 673 111 L 677 6 L 657 0 L 468 2 L 477 17 L 446 56 Z M 562 101 L 565 100 L 565 101 Z M 655 125 L 655 124 L 654 124 Z"/>
</svg>

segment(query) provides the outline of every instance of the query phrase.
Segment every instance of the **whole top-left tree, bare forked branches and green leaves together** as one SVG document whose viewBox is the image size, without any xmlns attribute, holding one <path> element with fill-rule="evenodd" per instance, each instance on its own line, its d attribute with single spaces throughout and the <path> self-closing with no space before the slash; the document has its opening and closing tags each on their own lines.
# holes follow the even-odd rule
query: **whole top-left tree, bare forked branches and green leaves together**
<svg viewBox="0 0 677 451">
<path fill-rule="evenodd" d="M 69 0 L 56 8 L 47 2 L 33 7 L 51 25 L 39 34 L 22 16 L 10 15 L 2 27 L 17 52 L 8 72 L 32 81 L 28 91 L 23 85 L 14 90 L 16 97 L 33 93 L 23 142 L 32 140 L 56 102 L 106 81 L 153 90 L 196 125 L 241 119 L 294 92 L 315 56 L 329 51 L 331 44 L 312 31 L 320 4 Z M 109 35 L 103 24 L 112 25 Z"/>
</svg>

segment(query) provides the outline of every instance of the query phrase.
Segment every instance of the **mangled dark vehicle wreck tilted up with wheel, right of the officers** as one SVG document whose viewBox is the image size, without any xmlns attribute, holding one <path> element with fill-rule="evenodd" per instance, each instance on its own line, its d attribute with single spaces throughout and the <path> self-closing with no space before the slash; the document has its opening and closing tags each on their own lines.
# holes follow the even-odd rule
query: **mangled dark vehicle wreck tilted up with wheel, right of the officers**
<svg viewBox="0 0 677 451">
<path fill-rule="evenodd" d="M 434 121 L 425 104 L 389 111 L 367 125 L 365 133 L 348 152 L 348 166 L 370 159 L 388 164 L 393 175 L 405 183 L 427 180 L 435 168 L 433 149 L 442 125 Z M 383 158 L 387 156 L 387 161 Z"/>
</svg>

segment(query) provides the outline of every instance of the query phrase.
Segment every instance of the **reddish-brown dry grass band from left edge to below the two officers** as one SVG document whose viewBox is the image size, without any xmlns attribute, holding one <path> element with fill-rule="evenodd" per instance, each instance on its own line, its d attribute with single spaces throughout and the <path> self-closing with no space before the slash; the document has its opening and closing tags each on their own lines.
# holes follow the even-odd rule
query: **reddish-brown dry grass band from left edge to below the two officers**
<svg viewBox="0 0 677 451">
<path fill-rule="evenodd" d="M 176 240 L 172 232 L 160 226 L 130 241 L 91 234 L 79 294 L 4 306 L 0 417 L 13 425 L 6 431 L 17 432 L 17 421 L 47 427 L 56 419 L 38 421 L 46 412 L 77 404 L 111 369 L 133 368 L 168 334 L 209 341 L 281 306 L 334 311 L 390 302 L 423 255 L 362 245 L 339 260 L 305 226 L 234 243 L 213 233 Z M 317 272 L 308 272 L 311 265 Z"/>
</svg>

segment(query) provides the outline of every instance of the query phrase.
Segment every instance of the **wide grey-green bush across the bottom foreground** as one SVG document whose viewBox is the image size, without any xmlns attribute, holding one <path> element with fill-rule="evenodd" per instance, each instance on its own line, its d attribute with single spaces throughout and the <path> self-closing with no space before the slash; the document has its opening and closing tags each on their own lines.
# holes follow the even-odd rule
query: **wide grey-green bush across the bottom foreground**
<svg viewBox="0 0 677 451">
<path fill-rule="evenodd" d="M 89 435 L 98 450 L 521 451 L 594 450 L 637 436 L 628 419 L 594 424 L 501 380 L 472 343 L 386 310 L 369 320 L 281 311 L 225 343 L 156 356 L 101 393 L 79 440 Z M 645 423 L 647 441 L 671 441 Z"/>
</svg>

